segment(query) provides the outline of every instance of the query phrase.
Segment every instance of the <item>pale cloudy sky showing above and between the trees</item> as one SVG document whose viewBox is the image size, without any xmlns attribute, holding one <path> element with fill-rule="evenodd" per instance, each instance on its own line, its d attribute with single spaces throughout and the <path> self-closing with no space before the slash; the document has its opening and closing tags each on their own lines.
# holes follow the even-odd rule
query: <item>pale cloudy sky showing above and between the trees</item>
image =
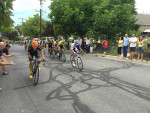
<svg viewBox="0 0 150 113">
<path fill-rule="evenodd" d="M 51 0 L 45 0 L 43 2 L 43 18 L 46 20 L 48 19 L 48 14 L 50 13 L 48 6 L 51 4 Z M 147 13 L 150 14 L 150 0 L 135 0 L 136 1 L 136 9 L 138 13 Z M 15 0 L 13 2 L 13 14 L 14 16 L 12 19 L 15 21 L 15 25 L 21 24 L 21 20 L 18 18 L 25 18 L 33 17 L 34 14 L 38 13 L 35 10 L 40 9 L 40 1 L 39 0 Z M 24 20 L 25 21 L 25 20 Z"/>
</svg>

